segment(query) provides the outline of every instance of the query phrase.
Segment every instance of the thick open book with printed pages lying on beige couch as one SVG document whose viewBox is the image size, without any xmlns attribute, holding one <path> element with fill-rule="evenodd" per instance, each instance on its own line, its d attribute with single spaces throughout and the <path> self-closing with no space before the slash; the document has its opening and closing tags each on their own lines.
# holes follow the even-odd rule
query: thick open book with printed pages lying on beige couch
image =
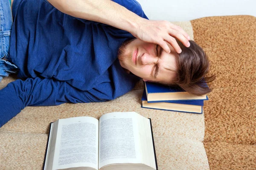
<svg viewBox="0 0 256 170">
<path fill-rule="evenodd" d="M 157 170 L 151 119 L 135 112 L 58 119 L 44 170 Z"/>
</svg>

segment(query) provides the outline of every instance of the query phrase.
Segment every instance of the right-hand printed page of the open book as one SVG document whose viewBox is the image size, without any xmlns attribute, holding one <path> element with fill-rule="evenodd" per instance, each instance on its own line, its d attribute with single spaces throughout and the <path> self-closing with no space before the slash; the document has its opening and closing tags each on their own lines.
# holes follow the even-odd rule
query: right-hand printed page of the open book
<svg viewBox="0 0 256 170">
<path fill-rule="evenodd" d="M 99 168 L 107 164 L 141 163 L 134 112 L 107 113 L 99 122 Z"/>
</svg>

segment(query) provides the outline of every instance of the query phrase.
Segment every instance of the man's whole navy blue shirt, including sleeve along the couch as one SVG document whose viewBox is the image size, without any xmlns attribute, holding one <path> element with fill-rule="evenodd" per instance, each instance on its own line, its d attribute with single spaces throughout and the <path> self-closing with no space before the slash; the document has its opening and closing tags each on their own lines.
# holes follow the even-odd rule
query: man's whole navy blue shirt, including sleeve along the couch
<svg viewBox="0 0 256 170">
<path fill-rule="evenodd" d="M 148 19 L 135 0 L 114 0 Z M 129 32 L 58 11 L 47 0 L 15 0 L 10 58 L 17 79 L 0 90 L 0 127 L 26 106 L 103 102 L 139 80 L 121 67 L 117 53 Z"/>
</svg>

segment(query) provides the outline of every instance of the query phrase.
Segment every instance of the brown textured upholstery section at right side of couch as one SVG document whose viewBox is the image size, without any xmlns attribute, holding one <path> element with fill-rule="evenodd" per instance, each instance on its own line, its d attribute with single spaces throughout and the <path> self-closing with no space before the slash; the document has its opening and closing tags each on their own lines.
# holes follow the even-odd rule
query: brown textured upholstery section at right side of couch
<svg viewBox="0 0 256 170">
<path fill-rule="evenodd" d="M 204 107 L 210 169 L 256 169 L 256 17 L 205 17 L 191 23 L 217 77 Z"/>
</svg>

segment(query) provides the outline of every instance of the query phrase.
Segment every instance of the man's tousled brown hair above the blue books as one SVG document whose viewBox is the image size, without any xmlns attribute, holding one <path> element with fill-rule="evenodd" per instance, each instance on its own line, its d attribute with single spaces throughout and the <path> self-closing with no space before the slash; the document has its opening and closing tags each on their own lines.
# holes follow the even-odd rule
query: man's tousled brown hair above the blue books
<svg viewBox="0 0 256 170">
<path fill-rule="evenodd" d="M 212 91 L 205 83 L 212 82 L 215 75 L 209 73 L 209 59 L 204 50 L 194 41 L 189 40 L 190 47 L 185 47 L 178 41 L 182 52 L 177 54 L 176 78 L 171 85 L 177 85 L 184 91 L 194 95 L 203 95 Z"/>
</svg>

